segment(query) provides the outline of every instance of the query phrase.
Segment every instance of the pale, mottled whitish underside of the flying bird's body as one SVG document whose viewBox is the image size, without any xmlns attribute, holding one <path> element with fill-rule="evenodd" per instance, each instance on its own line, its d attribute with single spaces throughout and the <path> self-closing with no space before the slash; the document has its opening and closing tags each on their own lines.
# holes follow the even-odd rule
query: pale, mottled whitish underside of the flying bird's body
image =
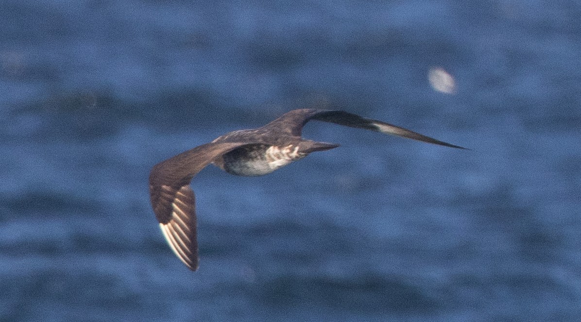
<svg viewBox="0 0 581 322">
<path fill-rule="evenodd" d="M 300 153 L 297 145 L 250 145 L 226 153 L 223 162 L 228 173 L 263 176 L 305 156 L 306 153 Z"/>
</svg>

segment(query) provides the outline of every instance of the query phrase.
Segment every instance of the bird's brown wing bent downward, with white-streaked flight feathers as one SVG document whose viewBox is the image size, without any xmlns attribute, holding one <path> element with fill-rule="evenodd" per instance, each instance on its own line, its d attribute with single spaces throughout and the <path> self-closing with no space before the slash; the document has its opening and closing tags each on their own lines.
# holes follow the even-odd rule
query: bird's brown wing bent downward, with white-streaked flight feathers
<svg viewBox="0 0 581 322">
<path fill-rule="evenodd" d="M 157 163 L 149 174 L 149 196 L 167 243 L 186 266 L 198 269 L 195 197 L 189 183 L 214 158 L 248 142 L 209 143 Z"/>
</svg>

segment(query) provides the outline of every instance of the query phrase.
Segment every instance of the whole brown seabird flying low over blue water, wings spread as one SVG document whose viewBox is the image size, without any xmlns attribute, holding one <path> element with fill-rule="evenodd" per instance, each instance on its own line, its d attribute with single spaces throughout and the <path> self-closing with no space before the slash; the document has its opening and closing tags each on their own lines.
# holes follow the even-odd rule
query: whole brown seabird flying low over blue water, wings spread
<svg viewBox="0 0 581 322">
<path fill-rule="evenodd" d="M 149 174 L 149 195 L 167 243 L 189 269 L 197 270 L 199 262 L 195 197 L 189 187 L 192 178 L 210 163 L 237 176 L 263 176 L 303 159 L 311 152 L 339 146 L 302 138 L 303 126 L 310 120 L 465 149 L 341 110 L 296 109 L 266 126 L 232 131 L 210 143 L 182 152 L 153 166 Z"/>
</svg>

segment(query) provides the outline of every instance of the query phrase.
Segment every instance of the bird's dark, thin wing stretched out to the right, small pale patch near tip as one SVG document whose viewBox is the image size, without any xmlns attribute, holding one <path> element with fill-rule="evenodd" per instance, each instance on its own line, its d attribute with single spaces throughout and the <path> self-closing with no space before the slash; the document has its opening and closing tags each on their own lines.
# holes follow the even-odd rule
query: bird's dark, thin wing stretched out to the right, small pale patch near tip
<svg viewBox="0 0 581 322">
<path fill-rule="evenodd" d="M 366 119 L 365 117 L 361 117 L 356 114 L 345 112 L 342 110 L 320 110 L 320 109 L 292 110 L 286 113 L 285 115 L 279 117 L 278 119 L 272 121 L 271 123 L 268 123 L 265 127 L 271 128 L 272 130 L 281 131 L 286 135 L 300 137 L 304 124 L 306 124 L 310 120 L 324 121 L 343 126 L 363 128 L 365 130 L 397 135 L 399 137 L 415 139 L 422 142 L 450 146 L 451 148 L 466 149 L 462 148 L 462 146 L 439 141 L 435 138 L 426 137 L 426 135 L 415 133 L 414 131 L 407 130 L 406 128 L 403 127 L 394 126 L 392 124 L 378 120 Z"/>
</svg>

